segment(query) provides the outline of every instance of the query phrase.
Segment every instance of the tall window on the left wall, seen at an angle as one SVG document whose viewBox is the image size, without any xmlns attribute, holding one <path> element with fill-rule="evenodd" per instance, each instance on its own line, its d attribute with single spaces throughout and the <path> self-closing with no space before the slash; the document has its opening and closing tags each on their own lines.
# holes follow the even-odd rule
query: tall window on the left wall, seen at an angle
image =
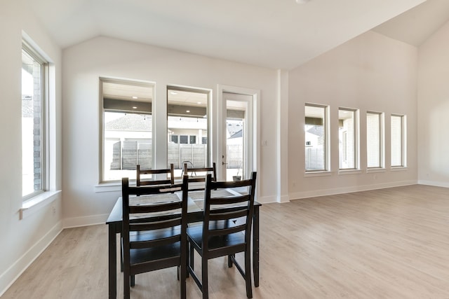
<svg viewBox="0 0 449 299">
<path fill-rule="evenodd" d="M 46 190 L 48 62 L 22 44 L 22 197 Z"/>
</svg>

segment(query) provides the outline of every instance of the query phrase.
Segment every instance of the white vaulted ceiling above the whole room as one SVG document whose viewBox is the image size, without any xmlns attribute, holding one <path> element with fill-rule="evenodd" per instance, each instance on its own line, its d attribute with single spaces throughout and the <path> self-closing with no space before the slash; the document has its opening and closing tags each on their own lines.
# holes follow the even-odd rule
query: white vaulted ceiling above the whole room
<svg viewBox="0 0 449 299">
<path fill-rule="evenodd" d="M 311 0 L 305 4 L 295 0 L 25 1 L 62 48 L 95 36 L 110 36 L 262 67 L 293 69 L 425 0 Z M 423 7 L 428 13 L 447 14 L 448 0 L 427 2 Z M 432 4 L 444 6 L 444 10 Z M 382 25 L 376 31 L 390 36 L 406 32 L 413 38 L 421 32 L 428 34 L 421 19 L 430 24 L 437 18 L 425 13 L 425 18 L 420 15 L 415 22 L 417 15 L 411 13 L 399 25 Z M 413 24 L 396 33 L 395 27 L 410 19 Z M 438 19 L 441 23 L 444 18 Z M 407 39 L 410 43 L 412 37 Z M 417 40 L 413 42 L 422 38 Z"/>
</svg>

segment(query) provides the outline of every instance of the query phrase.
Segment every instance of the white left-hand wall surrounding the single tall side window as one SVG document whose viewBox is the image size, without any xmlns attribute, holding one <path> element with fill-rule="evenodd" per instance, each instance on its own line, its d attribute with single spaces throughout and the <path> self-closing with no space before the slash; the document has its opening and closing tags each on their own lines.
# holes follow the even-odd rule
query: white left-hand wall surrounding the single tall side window
<svg viewBox="0 0 449 299">
<path fill-rule="evenodd" d="M 51 204 L 36 209 L 27 218 L 19 219 L 22 207 L 22 160 L 21 160 L 21 70 L 22 30 L 36 42 L 54 64 L 56 78 L 52 86 L 55 105 L 50 109 L 58 114 L 51 118 L 53 140 L 51 144 L 51 188 L 61 187 L 60 142 L 60 67 L 61 50 L 51 41 L 39 22 L 22 4 L 22 0 L 0 2 L 0 295 L 18 277 L 22 270 L 46 248 L 60 232 L 61 196 Z M 53 214 L 53 207 L 56 213 Z"/>
</svg>

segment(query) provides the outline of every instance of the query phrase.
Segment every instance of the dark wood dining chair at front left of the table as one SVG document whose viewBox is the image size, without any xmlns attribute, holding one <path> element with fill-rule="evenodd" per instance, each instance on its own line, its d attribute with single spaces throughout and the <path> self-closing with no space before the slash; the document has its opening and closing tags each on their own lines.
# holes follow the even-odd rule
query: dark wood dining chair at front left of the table
<svg viewBox="0 0 449 299">
<path fill-rule="evenodd" d="M 129 186 L 122 179 L 123 298 L 130 298 L 136 274 L 166 267 L 177 267 L 180 298 L 186 298 L 187 184 L 187 176 L 170 186 Z M 130 195 L 141 196 L 130 203 Z"/>
</svg>

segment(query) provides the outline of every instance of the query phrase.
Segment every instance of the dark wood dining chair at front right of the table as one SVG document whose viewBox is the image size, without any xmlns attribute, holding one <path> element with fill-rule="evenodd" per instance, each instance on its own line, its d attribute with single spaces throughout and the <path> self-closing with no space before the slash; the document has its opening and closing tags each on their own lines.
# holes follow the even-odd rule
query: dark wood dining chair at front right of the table
<svg viewBox="0 0 449 299">
<path fill-rule="evenodd" d="M 251 287 L 251 225 L 256 173 L 250 179 L 241 181 L 213 181 L 210 174 L 206 178 L 203 209 L 203 225 L 187 228 L 189 242 L 189 266 L 187 270 L 208 298 L 208 260 L 220 256 L 228 257 L 228 267 L 236 265 L 246 281 L 246 296 L 253 298 Z M 247 192 L 236 195 L 222 195 L 220 190 L 247 187 Z M 213 193 L 221 194 L 214 197 Z M 194 250 L 201 256 L 201 281 L 194 271 Z M 237 263 L 236 253 L 245 255 L 245 269 Z"/>
</svg>

